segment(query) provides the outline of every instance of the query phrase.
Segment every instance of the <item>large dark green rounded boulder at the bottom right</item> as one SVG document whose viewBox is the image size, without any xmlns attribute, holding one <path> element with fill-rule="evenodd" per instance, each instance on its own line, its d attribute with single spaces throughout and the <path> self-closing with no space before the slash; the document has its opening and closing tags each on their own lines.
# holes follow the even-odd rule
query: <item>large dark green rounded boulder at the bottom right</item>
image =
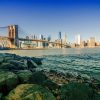
<svg viewBox="0 0 100 100">
<path fill-rule="evenodd" d="M 61 100 L 95 100 L 95 92 L 83 83 L 69 83 L 61 87 Z"/>
</svg>

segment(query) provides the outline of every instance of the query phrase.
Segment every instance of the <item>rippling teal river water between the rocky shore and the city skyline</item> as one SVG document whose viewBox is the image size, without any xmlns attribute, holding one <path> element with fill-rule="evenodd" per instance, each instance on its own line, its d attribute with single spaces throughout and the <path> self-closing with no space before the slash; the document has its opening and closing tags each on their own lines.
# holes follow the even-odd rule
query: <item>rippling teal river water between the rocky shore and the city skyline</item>
<svg viewBox="0 0 100 100">
<path fill-rule="evenodd" d="M 41 68 L 74 75 L 100 78 L 100 48 L 9 50 L 0 53 L 16 53 L 21 56 L 44 57 Z"/>
</svg>

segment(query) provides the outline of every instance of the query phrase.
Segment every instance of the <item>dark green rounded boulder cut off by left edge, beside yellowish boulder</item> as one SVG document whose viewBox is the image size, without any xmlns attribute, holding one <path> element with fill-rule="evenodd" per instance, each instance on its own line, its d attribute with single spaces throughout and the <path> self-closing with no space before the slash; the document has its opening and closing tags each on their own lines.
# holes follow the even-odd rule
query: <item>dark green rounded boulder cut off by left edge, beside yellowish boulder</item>
<svg viewBox="0 0 100 100">
<path fill-rule="evenodd" d="M 17 75 L 12 72 L 0 71 L 0 92 L 7 93 L 18 84 Z"/>
</svg>

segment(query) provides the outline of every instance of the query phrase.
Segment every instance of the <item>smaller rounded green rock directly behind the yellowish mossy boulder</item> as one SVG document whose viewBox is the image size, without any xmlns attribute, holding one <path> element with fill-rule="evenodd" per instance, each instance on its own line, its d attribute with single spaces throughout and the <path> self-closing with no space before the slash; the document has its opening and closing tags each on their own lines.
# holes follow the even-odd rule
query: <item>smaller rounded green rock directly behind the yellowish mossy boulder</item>
<svg viewBox="0 0 100 100">
<path fill-rule="evenodd" d="M 33 74 L 31 71 L 21 70 L 21 71 L 18 71 L 16 74 L 19 78 L 20 83 L 31 83 L 31 80 L 33 77 Z"/>
</svg>

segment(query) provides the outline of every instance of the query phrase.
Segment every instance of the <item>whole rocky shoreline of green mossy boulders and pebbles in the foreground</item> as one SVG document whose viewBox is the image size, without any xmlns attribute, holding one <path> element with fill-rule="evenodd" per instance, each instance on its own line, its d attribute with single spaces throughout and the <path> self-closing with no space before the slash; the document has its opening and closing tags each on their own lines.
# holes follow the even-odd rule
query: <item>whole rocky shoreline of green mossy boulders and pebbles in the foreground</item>
<svg viewBox="0 0 100 100">
<path fill-rule="evenodd" d="M 100 100 L 100 80 L 37 70 L 42 60 L 1 53 L 0 100 Z"/>
</svg>

